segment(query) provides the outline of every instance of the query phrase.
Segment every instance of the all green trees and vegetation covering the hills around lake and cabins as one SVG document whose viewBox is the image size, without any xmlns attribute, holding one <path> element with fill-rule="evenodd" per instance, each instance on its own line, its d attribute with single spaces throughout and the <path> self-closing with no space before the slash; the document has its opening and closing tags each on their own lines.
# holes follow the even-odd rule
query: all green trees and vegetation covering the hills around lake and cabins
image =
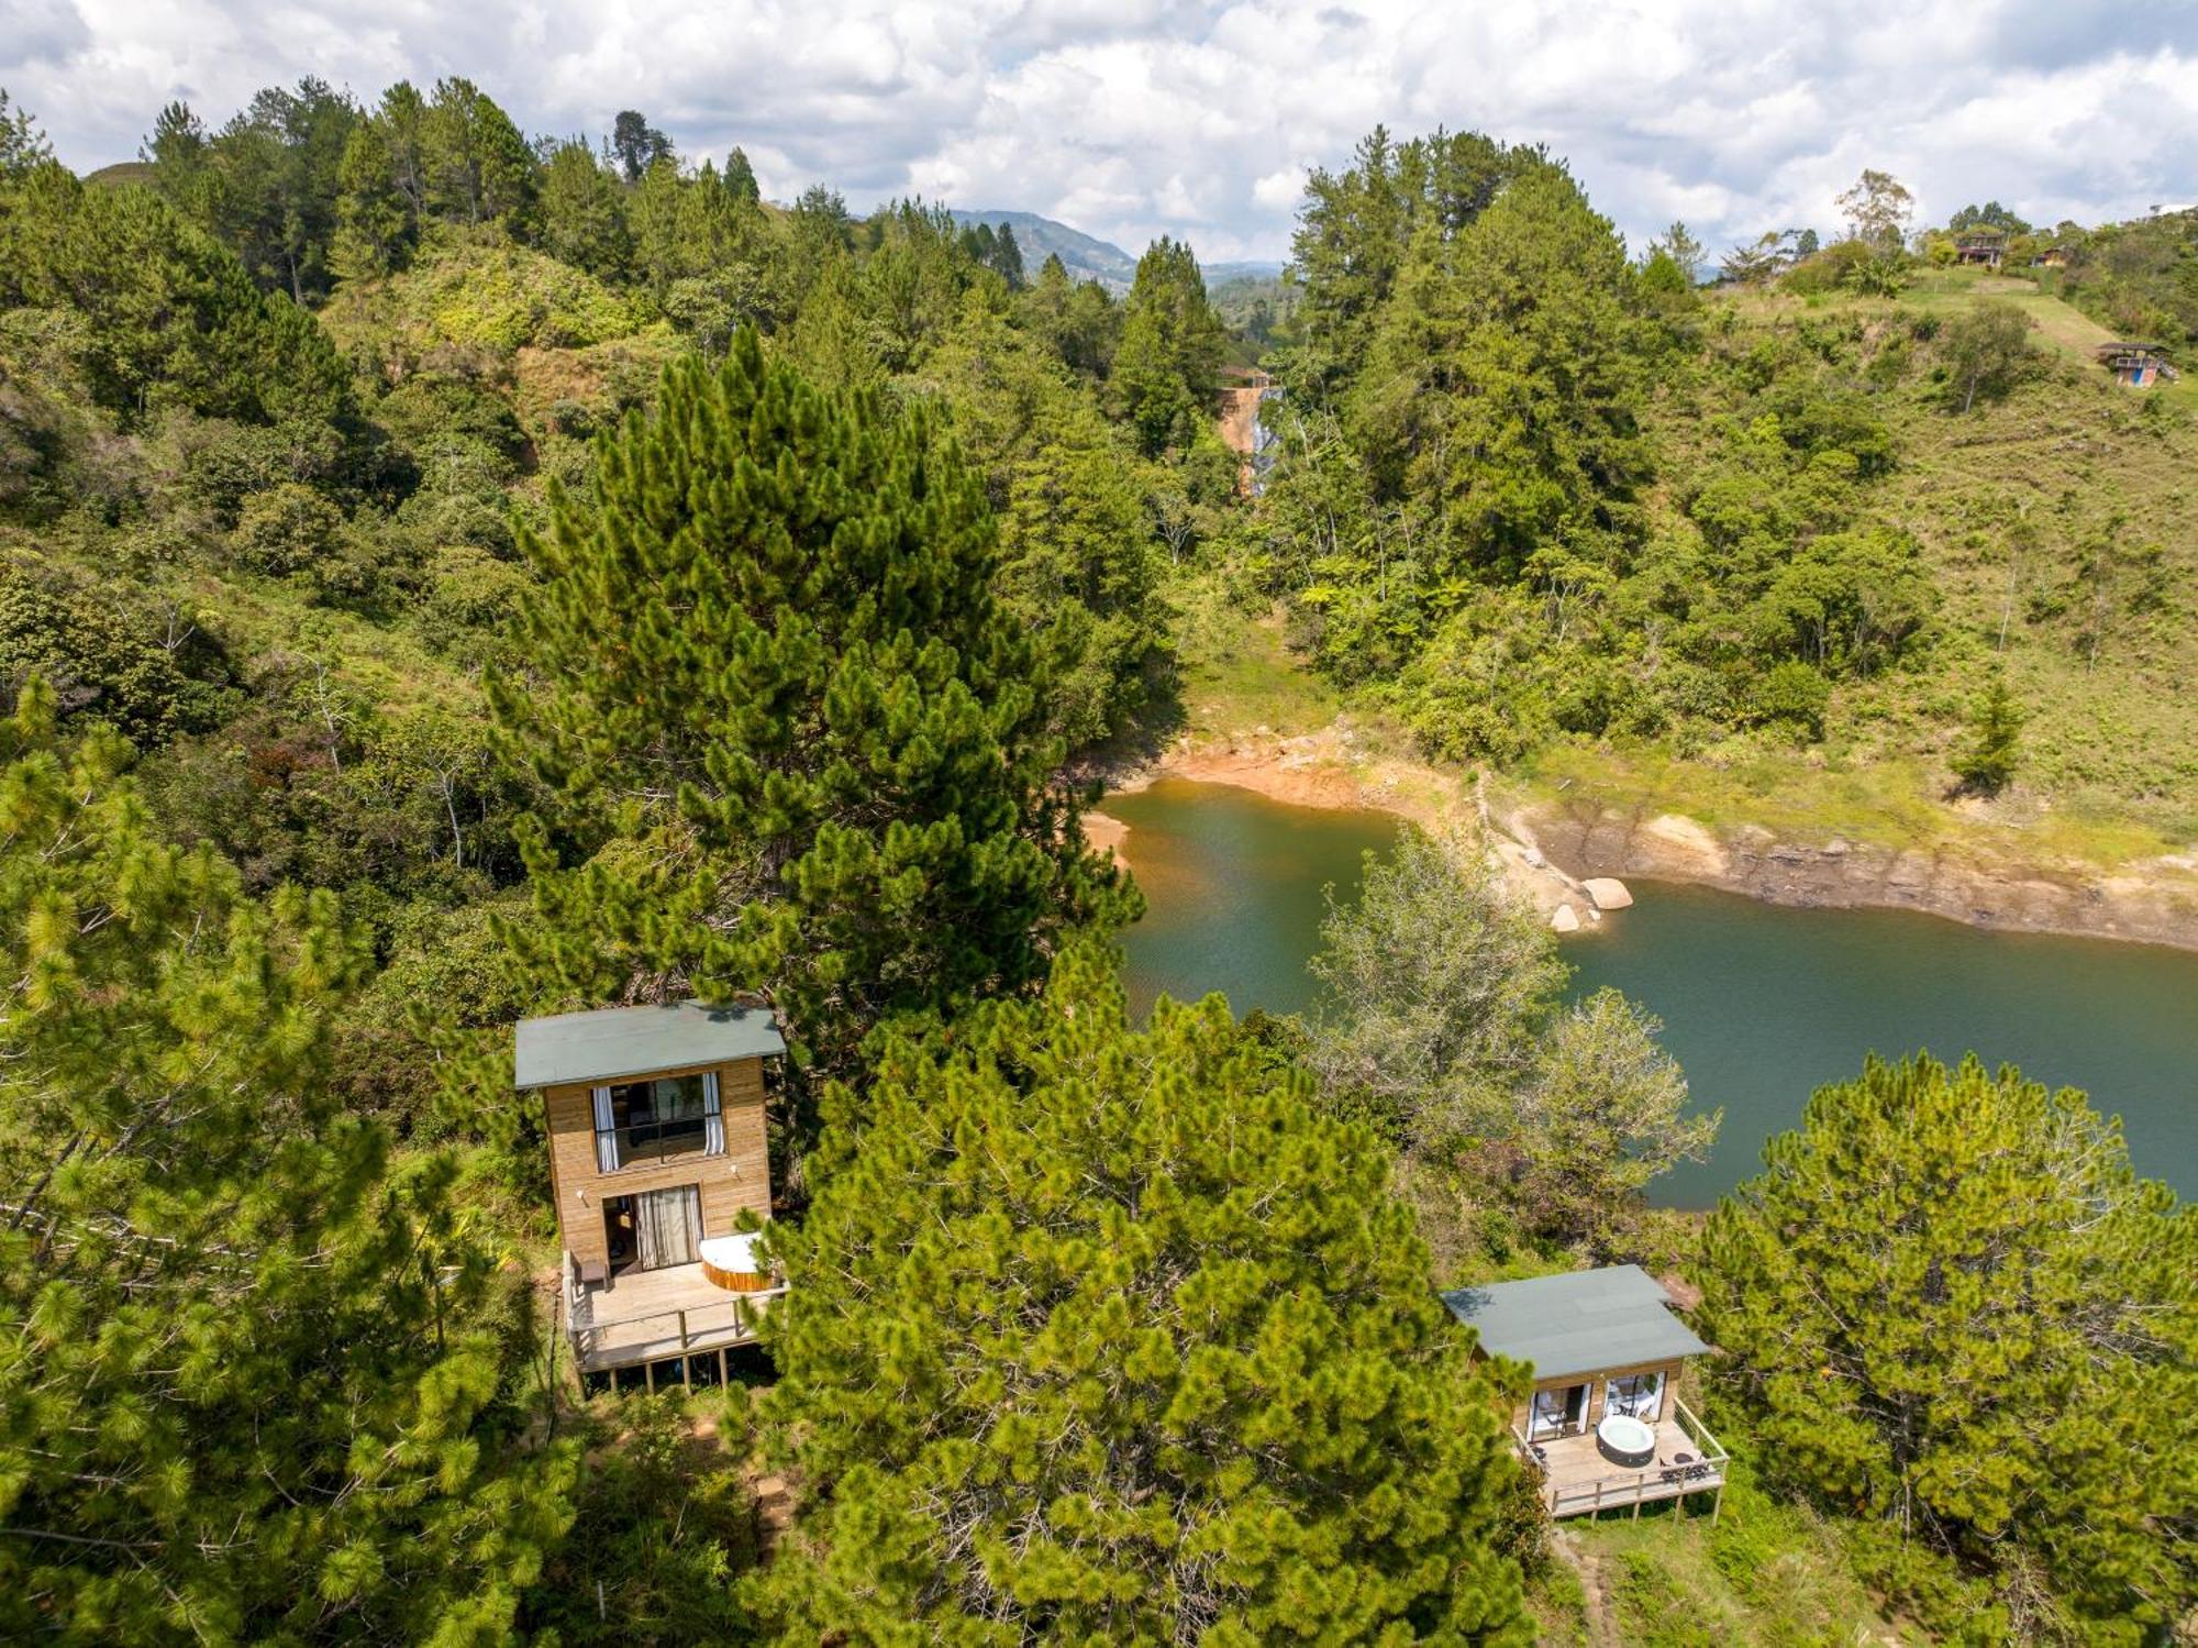
<svg viewBox="0 0 2198 1648">
<path fill-rule="evenodd" d="M 1218 305 L 455 77 L 84 178 L 0 92 L 0 1635 L 2191 1641 L 2198 1433 L 2136 1415 L 2198 1406 L 2198 1215 L 2082 1092 L 1857 1046 L 1653 1209 L 1719 1116 L 1470 831 L 1369 864 L 1308 1022 L 1132 1015 L 1081 828 L 1312 703 L 2198 839 L 2198 402 L 2090 356 L 2189 358 L 2198 215 L 1840 211 L 1712 281 L 1376 130 Z M 677 1000 L 785 1031 L 787 1296 L 723 1389 L 587 1393 L 512 1024 Z M 1611 1263 L 1732 1477 L 1583 1538 L 1437 1290 Z"/>
</svg>

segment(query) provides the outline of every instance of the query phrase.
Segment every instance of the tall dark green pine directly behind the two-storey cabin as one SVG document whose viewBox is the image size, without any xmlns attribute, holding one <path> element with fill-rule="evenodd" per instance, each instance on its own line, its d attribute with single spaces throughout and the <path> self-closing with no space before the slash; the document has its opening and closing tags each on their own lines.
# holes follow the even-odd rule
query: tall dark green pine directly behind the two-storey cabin
<svg viewBox="0 0 2198 1648">
<path fill-rule="evenodd" d="M 666 376 L 552 497 L 497 681 L 554 789 L 536 837 L 554 991 L 761 991 L 842 1070 L 870 1026 L 1042 978 L 1130 894 L 1055 787 L 1048 683 L 993 598 L 993 523 L 917 411 L 824 396 L 745 330 Z"/>
</svg>

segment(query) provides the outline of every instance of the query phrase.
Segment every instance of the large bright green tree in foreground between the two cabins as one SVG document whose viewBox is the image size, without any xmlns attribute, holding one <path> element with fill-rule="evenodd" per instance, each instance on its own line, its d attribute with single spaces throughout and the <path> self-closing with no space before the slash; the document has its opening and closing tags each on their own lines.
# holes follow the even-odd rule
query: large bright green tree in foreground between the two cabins
<svg viewBox="0 0 2198 1648">
<path fill-rule="evenodd" d="M 1112 958 L 835 1088 L 778 1241 L 789 1641 L 1528 1641 L 1497 1395 L 1372 1136 Z"/>
</svg>

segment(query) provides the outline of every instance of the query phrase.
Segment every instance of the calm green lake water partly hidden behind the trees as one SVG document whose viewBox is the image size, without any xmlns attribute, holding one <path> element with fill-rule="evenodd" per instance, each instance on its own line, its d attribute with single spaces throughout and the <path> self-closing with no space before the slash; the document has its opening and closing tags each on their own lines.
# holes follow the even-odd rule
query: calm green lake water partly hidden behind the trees
<svg viewBox="0 0 2198 1648">
<path fill-rule="evenodd" d="M 1163 780 L 1101 802 L 1147 916 L 1125 936 L 1134 1011 L 1222 991 L 1237 1013 L 1314 1004 L 1321 888 L 1350 897 L 1361 855 L 1398 820 Z M 1629 881 L 1635 905 L 1565 943 L 1574 989 L 1622 989 L 1664 1020 L 1695 1099 L 1723 1105 L 1706 1165 L 1657 1200 L 1708 1206 L 1747 1178 L 1809 1092 L 1888 1057 L 1976 1048 L 2117 1112 L 2141 1173 L 2198 1195 L 2198 954 L 2000 934 L 1899 910 L 1794 910 L 1708 888 Z"/>
</svg>

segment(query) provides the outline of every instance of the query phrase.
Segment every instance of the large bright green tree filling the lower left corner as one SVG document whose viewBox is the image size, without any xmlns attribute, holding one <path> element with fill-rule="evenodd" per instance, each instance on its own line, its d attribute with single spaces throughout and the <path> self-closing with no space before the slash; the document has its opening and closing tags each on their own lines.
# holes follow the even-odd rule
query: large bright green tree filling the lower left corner
<svg viewBox="0 0 2198 1648">
<path fill-rule="evenodd" d="M 532 1299 L 330 1101 L 332 899 L 163 844 L 125 754 L 0 727 L 0 1635 L 495 1637 L 574 1466 Z"/>
</svg>

